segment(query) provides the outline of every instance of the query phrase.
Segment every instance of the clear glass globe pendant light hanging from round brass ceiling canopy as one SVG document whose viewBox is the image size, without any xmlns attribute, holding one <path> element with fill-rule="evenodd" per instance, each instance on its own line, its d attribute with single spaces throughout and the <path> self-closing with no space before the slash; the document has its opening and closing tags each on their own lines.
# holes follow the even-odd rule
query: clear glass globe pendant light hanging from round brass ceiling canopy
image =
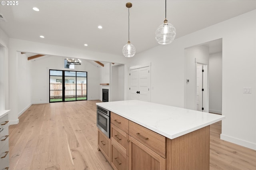
<svg viewBox="0 0 256 170">
<path fill-rule="evenodd" d="M 132 7 L 132 3 L 126 3 L 126 7 L 128 8 L 128 43 L 123 47 L 124 57 L 133 57 L 136 49 L 134 45 L 130 43 L 130 8 Z"/>
</svg>

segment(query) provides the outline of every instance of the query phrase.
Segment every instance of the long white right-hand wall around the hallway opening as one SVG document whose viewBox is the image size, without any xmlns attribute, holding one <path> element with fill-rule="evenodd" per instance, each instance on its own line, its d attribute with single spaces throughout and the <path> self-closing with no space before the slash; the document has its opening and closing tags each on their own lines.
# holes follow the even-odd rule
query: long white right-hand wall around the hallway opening
<svg viewBox="0 0 256 170">
<path fill-rule="evenodd" d="M 185 48 L 222 38 L 221 138 L 256 150 L 256 10 L 136 54 L 131 65 L 152 63 L 151 101 L 184 107 Z M 177 30 L 178 34 L 178 30 Z M 243 94 L 243 87 L 252 87 Z"/>
</svg>

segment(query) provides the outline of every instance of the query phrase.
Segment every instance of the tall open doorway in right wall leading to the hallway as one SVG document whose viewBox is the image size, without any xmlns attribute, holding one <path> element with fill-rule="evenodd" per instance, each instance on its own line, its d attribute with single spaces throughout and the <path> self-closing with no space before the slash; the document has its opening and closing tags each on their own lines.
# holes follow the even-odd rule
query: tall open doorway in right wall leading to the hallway
<svg viewBox="0 0 256 170">
<path fill-rule="evenodd" d="M 184 107 L 200 110 L 205 101 L 204 112 L 222 114 L 222 38 L 186 48 L 185 63 Z M 197 85 L 197 64 L 206 66 L 204 88 Z M 198 89 L 204 89 L 202 101 Z"/>
</svg>

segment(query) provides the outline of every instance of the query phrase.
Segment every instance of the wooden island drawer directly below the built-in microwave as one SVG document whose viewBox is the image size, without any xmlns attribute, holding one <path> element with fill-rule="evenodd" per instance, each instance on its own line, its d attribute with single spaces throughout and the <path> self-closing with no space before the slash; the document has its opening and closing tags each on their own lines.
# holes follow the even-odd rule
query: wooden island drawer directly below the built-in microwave
<svg viewBox="0 0 256 170">
<path fill-rule="evenodd" d="M 100 148 L 108 162 L 110 162 L 110 138 L 100 130 L 98 130 L 98 148 Z"/>
</svg>

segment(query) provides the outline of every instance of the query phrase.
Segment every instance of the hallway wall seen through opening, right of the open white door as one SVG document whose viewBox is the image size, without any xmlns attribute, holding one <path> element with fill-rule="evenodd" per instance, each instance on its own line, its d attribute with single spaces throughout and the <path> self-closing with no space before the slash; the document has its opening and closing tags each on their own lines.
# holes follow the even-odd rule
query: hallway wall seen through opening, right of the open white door
<svg viewBox="0 0 256 170">
<path fill-rule="evenodd" d="M 222 114 L 222 52 L 209 58 L 209 112 Z"/>
</svg>

